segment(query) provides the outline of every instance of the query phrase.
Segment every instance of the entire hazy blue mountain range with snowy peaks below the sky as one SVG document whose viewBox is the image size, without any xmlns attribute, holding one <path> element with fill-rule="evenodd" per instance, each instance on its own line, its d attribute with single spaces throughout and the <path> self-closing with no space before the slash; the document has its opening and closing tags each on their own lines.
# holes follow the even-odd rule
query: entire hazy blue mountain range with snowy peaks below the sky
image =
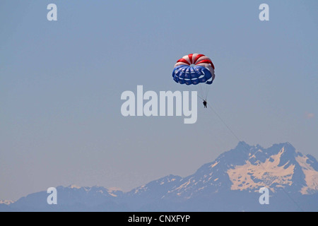
<svg viewBox="0 0 318 226">
<path fill-rule="evenodd" d="M 271 205 L 259 204 L 269 188 Z M 262 148 L 238 143 L 188 177 L 168 175 L 129 192 L 100 186 L 58 186 L 58 205 L 42 191 L 11 203 L 11 210 L 318 210 L 318 162 L 290 143 Z"/>
</svg>

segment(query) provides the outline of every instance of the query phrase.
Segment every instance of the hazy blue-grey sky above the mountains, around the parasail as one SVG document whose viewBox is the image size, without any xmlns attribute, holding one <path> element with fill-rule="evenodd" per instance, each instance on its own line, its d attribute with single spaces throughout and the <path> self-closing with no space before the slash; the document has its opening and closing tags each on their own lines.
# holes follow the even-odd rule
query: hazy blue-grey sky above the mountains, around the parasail
<svg viewBox="0 0 318 226">
<path fill-rule="evenodd" d="M 127 191 L 234 148 L 200 100 L 196 124 L 122 117 L 136 85 L 188 90 L 171 73 L 194 52 L 213 60 L 208 102 L 240 140 L 317 158 L 317 11 L 317 0 L 1 0 L 0 199 L 69 184 Z"/>
</svg>

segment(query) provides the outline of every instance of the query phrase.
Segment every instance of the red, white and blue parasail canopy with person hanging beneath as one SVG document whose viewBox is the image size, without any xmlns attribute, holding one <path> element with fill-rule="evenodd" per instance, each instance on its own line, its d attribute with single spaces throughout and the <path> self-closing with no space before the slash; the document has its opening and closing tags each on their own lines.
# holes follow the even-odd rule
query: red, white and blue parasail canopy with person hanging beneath
<svg viewBox="0 0 318 226">
<path fill-rule="evenodd" d="M 216 78 L 214 69 L 211 59 L 204 54 L 188 54 L 177 61 L 172 78 L 179 84 L 199 85 L 202 95 L 199 97 L 203 100 L 204 108 L 207 108 L 209 89 L 204 86 L 211 85 Z"/>
</svg>

